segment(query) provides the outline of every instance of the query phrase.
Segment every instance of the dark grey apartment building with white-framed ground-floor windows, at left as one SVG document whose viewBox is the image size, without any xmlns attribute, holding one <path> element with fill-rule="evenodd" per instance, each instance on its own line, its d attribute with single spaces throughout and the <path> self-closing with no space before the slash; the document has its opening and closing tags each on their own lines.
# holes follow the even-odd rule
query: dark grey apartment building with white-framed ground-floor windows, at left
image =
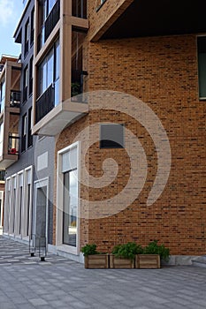
<svg viewBox="0 0 206 309">
<path fill-rule="evenodd" d="M 11 93 L 12 107 L 7 106 L 4 113 L 4 156 L 0 167 L 6 170 L 4 235 L 23 239 L 45 237 L 51 243 L 53 233 L 52 195 L 45 199 L 45 192 L 53 186 L 54 138 L 33 136 L 33 64 L 34 64 L 34 1 L 27 1 L 14 34 L 16 43 L 21 44 L 21 55 L 15 63 L 6 63 L 11 81 L 5 80 L 8 87 L 5 94 Z M 9 66 L 10 64 L 10 66 Z M 17 67 L 17 68 L 16 68 Z M 16 71 L 14 71 L 16 70 Z M 6 76 L 10 76 L 6 73 Z M 12 91 L 16 93 L 13 94 Z M 18 91 L 18 92 L 17 92 Z M 5 100 L 8 102 L 8 99 Z M 10 105 L 11 105 L 10 104 Z M 10 114 L 8 114 L 10 112 Z M 11 128 L 9 127 L 11 125 Z M 6 142 L 9 140 L 9 145 Z M 8 150 L 9 149 L 9 153 Z M 42 186 L 43 185 L 43 186 Z M 39 207 L 45 205 L 47 215 Z M 37 215 L 38 213 L 38 215 Z M 48 222 L 50 215 L 50 223 Z M 47 223 L 47 230 L 41 231 Z M 40 244 L 40 242 L 38 242 Z"/>
</svg>

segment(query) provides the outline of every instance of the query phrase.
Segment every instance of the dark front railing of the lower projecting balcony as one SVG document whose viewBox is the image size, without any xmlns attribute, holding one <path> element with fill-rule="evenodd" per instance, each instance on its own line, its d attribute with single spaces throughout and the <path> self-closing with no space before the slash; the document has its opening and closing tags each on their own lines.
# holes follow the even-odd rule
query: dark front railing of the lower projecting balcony
<svg viewBox="0 0 206 309">
<path fill-rule="evenodd" d="M 46 116 L 55 106 L 55 88 L 51 84 L 49 88 L 38 98 L 35 104 L 35 123 Z"/>
</svg>

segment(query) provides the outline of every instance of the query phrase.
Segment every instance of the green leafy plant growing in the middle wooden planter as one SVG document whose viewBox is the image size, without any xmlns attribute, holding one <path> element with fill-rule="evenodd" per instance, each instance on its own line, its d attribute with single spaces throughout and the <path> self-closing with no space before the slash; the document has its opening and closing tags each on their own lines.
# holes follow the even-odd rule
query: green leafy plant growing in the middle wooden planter
<svg viewBox="0 0 206 309">
<path fill-rule="evenodd" d="M 123 245 L 115 245 L 112 252 L 117 258 L 134 260 L 136 254 L 142 253 L 141 245 L 136 243 L 127 243 Z"/>
</svg>

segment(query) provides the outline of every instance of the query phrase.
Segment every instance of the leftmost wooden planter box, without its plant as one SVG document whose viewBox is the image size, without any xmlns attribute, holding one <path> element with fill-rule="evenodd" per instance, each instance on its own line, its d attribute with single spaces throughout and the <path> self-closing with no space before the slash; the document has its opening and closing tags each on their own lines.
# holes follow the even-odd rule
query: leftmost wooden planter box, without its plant
<svg viewBox="0 0 206 309">
<path fill-rule="evenodd" d="M 84 257 L 85 268 L 109 268 L 109 254 L 94 254 Z"/>
</svg>

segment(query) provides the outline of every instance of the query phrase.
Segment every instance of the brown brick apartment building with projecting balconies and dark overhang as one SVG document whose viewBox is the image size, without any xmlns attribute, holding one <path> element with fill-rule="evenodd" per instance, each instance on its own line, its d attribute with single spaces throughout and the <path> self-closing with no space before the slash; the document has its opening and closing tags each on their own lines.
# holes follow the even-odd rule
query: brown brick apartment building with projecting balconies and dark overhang
<svg viewBox="0 0 206 309">
<path fill-rule="evenodd" d="M 55 144 L 34 207 L 50 250 L 81 260 L 86 243 L 158 239 L 182 261 L 205 253 L 202 14 L 201 0 L 35 0 L 31 130 Z"/>
</svg>

